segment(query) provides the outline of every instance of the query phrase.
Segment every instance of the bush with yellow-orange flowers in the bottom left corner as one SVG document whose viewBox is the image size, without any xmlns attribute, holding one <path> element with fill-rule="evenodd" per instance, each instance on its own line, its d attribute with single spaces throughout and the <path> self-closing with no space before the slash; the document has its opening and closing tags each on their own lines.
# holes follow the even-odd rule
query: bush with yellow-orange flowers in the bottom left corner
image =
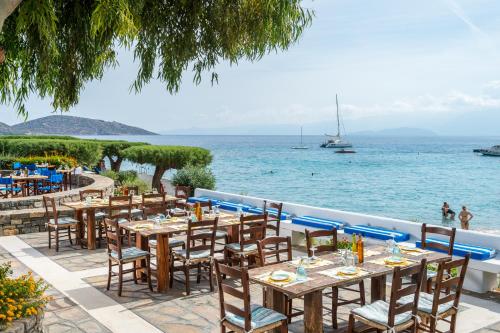
<svg viewBox="0 0 500 333">
<path fill-rule="evenodd" d="M 0 265 L 0 330 L 14 320 L 38 315 L 50 301 L 47 288 L 31 272 L 14 278 L 10 263 Z"/>
</svg>

